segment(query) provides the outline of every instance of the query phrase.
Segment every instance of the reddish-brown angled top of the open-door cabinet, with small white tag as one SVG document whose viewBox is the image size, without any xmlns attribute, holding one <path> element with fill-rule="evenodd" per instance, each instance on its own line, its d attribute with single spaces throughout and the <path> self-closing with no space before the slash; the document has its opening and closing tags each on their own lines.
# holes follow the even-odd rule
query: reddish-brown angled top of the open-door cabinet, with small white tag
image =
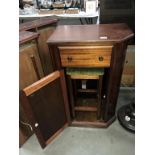
<svg viewBox="0 0 155 155">
<path fill-rule="evenodd" d="M 99 25 L 59 25 L 47 43 L 121 42 L 133 36 L 124 23 Z"/>
</svg>

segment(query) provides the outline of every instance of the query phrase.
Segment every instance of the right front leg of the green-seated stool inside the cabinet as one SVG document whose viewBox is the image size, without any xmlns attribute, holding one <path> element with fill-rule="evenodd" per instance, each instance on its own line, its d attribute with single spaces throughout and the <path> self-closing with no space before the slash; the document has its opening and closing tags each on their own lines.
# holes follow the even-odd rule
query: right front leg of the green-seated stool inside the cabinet
<svg viewBox="0 0 155 155">
<path fill-rule="evenodd" d="M 101 102 L 102 102 L 102 81 L 103 81 L 103 76 L 99 76 L 99 81 L 98 81 L 98 105 L 97 105 L 97 118 L 99 119 L 101 117 Z"/>
</svg>

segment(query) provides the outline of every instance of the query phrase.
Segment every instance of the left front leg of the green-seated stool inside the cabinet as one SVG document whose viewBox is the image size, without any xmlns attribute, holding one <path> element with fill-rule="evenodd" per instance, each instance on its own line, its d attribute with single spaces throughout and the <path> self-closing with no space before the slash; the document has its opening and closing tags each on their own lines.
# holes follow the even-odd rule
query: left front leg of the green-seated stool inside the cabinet
<svg viewBox="0 0 155 155">
<path fill-rule="evenodd" d="M 68 83 L 68 93 L 70 98 L 70 104 L 71 104 L 71 112 L 73 118 L 75 117 L 75 111 L 74 111 L 74 96 L 73 96 L 73 87 L 72 87 L 72 80 L 71 77 L 67 76 L 67 83 Z"/>
</svg>

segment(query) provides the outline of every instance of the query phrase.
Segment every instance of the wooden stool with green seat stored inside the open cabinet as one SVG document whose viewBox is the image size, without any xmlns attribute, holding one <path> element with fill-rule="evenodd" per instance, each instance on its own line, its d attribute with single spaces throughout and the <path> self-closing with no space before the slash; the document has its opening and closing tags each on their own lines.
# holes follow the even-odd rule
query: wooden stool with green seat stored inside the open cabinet
<svg viewBox="0 0 155 155">
<path fill-rule="evenodd" d="M 67 68 L 68 92 L 75 121 L 101 120 L 103 68 Z"/>
</svg>

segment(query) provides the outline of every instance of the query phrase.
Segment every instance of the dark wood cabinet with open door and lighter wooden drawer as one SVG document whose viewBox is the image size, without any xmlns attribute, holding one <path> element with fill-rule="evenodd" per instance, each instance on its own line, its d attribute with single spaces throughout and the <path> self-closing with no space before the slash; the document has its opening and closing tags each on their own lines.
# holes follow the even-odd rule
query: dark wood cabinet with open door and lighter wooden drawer
<svg viewBox="0 0 155 155">
<path fill-rule="evenodd" d="M 67 125 L 107 127 L 115 120 L 126 48 L 133 36 L 126 24 L 57 26 L 47 41 L 54 72 L 20 93 L 21 103 L 42 147 Z M 94 115 L 89 121 L 81 115 L 79 121 L 77 114 L 71 114 L 72 108 L 76 112 L 83 112 L 86 108 L 71 105 L 69 95 L 77 97 L 76 91 L 83 93 L 84 90 L 69 91 L 70 85 L 78 85 L 78 82 L 65 80 L 68 67 L 104 69 L 100 83 L 102 106 L 99 118 Z M 88 89 L 86 92 L 96 91 Z M 87 108 L 88 113 L 94 111 L 96 108 Z"/>
</svg>

